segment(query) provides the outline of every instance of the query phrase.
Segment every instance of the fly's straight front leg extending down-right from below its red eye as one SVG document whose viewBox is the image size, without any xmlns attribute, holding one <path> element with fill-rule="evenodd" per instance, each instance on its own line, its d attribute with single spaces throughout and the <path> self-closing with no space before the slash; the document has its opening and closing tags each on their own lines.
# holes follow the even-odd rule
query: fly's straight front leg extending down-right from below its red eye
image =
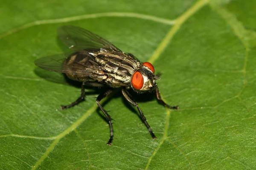
<svg viewBox="0 0 256 170">
<path fill-rule="evenodd" d="M 143 112 L 140 110 L 138 104 L 134 101 L 134 99 L 132 99 L 131 95 L 128 93 L 128 91 L 125 88 L 122 88 L 122 94 L 125 97 L 125 99 L 128 100 L 128 102 L 130 102 L 132 105 L 134 105 L 138 109 L 138 111 L 140 113 L 140 118 L 142 119 L 142 121 L 146 125 L 146 127 L 148 128 L 148 131 L 149 131 L 152 139 L 156 139 L 157 137 L 154 135 L 151 127 L 148 125 L 148 122 L 147 122 Z"/>
</svg>

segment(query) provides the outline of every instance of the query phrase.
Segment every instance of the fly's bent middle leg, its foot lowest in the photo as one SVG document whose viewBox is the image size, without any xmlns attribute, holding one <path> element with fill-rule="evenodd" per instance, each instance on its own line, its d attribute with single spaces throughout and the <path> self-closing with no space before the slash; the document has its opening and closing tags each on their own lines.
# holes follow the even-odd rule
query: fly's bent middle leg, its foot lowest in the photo
<svg viewBox="0 0 256 170">
<path fill-rule="evenodd" d="M 102 105 L 99 103 L 102 99 L 104 99 L 106 96 L 108 96 L 109 94 L 111 94 L 113 90 L 110 89 L 108 91 L 105 91 L 104 93 L 100 94 L 97 99 L 96 99 L 96 103 L 99 105 L 100 110 L 102 110 L 102 112 L 104 113 L 104 115 L 106 116 L 106 118 L 108 119 L 108 123 L 110 126 L 110 139 L 108 140 L 108 145 L 112 144 L 113 141 L 113 126 L 112 126 L 112 121 L 111 121 L 111 117 L 109 116 L 108 112 L 102 107 Z"/>
</svg>

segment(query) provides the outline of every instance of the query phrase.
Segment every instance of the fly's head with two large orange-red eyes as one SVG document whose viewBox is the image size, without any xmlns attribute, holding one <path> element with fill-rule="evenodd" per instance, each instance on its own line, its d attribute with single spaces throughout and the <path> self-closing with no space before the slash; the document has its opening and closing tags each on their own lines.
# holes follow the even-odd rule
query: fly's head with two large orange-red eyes
<svg viewBox="0 0 256 170">
<path fill-rule="evenodd" d="M 138 93 L 152 91 L 155 86 L 155 80 L 160 79 L 154 75 L 154 67 L 149 62 L 144 62 L 131 77 L 131 87 Z"/>
</svg>

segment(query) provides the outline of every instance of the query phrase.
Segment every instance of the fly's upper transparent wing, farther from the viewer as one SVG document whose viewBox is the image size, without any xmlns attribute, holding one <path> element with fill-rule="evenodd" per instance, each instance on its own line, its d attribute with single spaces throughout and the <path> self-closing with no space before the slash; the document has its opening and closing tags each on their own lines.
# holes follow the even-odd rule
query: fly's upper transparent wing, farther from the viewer
<svg viewBox="0 0 256 170">
<path fill-rule="evenodd" d="M 103 50 L 122 52 L 102 37 L 77 26 L 61 26 L 60 28 L 58 28 L 57 34 L 61 41 L 73 51 Z"/>
</svg>

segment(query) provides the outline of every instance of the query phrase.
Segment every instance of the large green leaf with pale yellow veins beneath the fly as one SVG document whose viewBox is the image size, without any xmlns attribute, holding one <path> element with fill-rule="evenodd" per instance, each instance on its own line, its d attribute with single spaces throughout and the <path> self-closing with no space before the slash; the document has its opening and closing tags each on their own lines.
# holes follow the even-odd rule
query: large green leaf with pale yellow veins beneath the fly
<svg viewBox="0 0 256 170">
<path fill-rule="evenodd" d="M 0 6 L 0 169 L 256 169 L 255 0 L 3 1 Z M 93 31 L 162 72 L 135 95 L 152 140 L 120 93 L 80 89 L 34 60 L 63 52 L 62 25 Z"/>
</svg>

